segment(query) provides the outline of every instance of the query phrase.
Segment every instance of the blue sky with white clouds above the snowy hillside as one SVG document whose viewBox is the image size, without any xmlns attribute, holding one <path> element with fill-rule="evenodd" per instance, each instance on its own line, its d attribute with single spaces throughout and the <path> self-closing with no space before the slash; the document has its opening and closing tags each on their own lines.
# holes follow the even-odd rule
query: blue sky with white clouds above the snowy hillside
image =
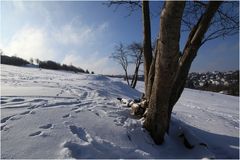
<svg viewBox="0 0 240 160">
<path fill-rule="evenodd" d="M 123 74 L 110 56 L 122 42 L 142 42 L 141 10 L 107 7 L 101 1 L 1 1 L 0 49 L 6 55 L 73 64 L 98 74 Z M 150 2 L 152 39 L 162 2 Z M 186 42 L 182 33 L 180 46 Z M 204 44 L 191 72 L 239 68 L 239 34 Z M 129 72 L 133 67 L 129 66 Z M 141 73 L 140 73 L 141 74 Z"/>
</svg>

